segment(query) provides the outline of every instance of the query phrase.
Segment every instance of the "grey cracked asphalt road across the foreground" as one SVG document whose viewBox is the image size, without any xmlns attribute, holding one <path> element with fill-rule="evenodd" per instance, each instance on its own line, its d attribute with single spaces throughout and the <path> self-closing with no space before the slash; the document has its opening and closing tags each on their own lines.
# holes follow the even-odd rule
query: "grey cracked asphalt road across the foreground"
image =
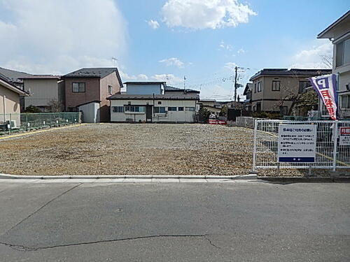
<svg viewBox="0 0 350 262">
<path fill-rule="evenodd" d="M 0 261 L 349 261 L 350 184 L 1 183 Z"/>
</svg>

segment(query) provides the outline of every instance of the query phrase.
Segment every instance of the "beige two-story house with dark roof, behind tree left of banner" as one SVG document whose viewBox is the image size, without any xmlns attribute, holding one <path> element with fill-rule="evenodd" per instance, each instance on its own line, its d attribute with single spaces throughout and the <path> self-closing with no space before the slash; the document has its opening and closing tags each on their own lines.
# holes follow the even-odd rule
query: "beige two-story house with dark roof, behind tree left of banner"
<svg viewBox="0 0 350 262">
<path fill-rule="evenodd" d="M 279 112 L 288 115 L 311 84 L 308 78 L 331 73 L 328 69 L 262 69 L 250 79 L 253 112 Z M 246 107 L 250 105 L 246 104 Z"/>
</svg>

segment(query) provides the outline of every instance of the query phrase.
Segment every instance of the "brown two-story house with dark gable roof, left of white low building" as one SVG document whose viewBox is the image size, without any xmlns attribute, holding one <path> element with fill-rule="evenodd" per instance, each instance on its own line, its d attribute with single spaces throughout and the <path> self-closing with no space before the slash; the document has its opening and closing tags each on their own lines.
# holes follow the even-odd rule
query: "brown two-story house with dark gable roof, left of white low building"
<svg viewBox="0 0 350 262">
<path fill-rule="evenodd" d="M 99 121 L 109 122 L 107 97 L 120 92 L 123 82 L 117 68 L 82 68 L 62 76 L 65 110 L 77 112 L 80 105 L 99 101 Z"/>
</svg>

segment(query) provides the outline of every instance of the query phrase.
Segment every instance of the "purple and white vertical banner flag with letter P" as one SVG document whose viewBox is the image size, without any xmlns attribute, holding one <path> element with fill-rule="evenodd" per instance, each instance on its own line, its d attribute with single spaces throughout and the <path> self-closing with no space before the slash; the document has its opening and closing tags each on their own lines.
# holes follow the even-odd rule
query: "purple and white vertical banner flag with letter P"
<svg viewBox="0 0 350 262">
<path fill-rule="evenodd" d="M 330 118 L 337 119 L 337 78 L 335 74 L 315 76 L 309 78 L 318 96 L 321 97 L 325 108 L 327 108 Z"/>
</svg>

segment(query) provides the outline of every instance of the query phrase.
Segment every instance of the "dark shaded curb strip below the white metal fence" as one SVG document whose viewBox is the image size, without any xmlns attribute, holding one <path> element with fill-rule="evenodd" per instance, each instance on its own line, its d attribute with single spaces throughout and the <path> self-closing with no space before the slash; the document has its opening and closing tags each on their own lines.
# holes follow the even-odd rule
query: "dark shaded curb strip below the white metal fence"
<svg viewBox="0 0 350 262">
<path fill-rule="evenodd" d="M 258 180 L 282 183 L 336 183 L 350 182 L 349 177 L 258 177 Z"/>
</svg>

